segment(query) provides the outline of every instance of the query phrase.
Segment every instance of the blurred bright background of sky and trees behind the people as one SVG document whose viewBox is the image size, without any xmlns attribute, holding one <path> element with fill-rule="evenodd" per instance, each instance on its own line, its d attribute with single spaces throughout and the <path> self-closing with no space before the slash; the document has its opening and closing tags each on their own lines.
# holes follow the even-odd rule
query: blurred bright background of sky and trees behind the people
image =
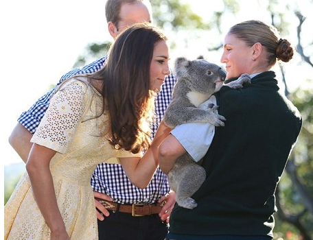
<svg viewBox="0 0 313 240">
<path fill-rule="evenodd" d="M 281 90 L 299 108 L 303 129 L 277 188 L 275 239 L 313 239 L 313 1 L 312 0 L 150 0 L 154 25 L 169 38 L 171 59 L 202 55 L 220 64 L 229 27 L 258 19 L 275 25 L 297 48 L 275 71 Z M 4 204 L 25 172 L 8 143 L 21 112 L 73 67 L 106 54 L 112 38 L 105 0 L 0 3 L 0 53 Z M 285 66 L 286 65 L 286 66 Z"/>
</svg>

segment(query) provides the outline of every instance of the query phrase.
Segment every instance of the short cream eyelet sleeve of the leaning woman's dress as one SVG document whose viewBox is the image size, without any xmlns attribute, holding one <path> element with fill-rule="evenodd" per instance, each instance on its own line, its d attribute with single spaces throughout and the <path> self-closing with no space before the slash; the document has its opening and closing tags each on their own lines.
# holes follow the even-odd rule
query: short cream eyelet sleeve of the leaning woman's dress
<svg viewBox="0 0 313 240">
<path fill-rule="evenodd" d="M 64 154 L 82 117 L 87 84 L 69 80 L 51 98 L 49 108 L 38 126 L 32 143 Z"/>
</svg>

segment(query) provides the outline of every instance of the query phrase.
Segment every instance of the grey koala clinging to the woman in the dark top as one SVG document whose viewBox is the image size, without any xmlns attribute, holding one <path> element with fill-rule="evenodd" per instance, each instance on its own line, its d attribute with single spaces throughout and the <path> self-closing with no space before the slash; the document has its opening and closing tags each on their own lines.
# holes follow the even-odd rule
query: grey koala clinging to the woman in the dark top
<svg viewBox="0 0 313 240">
<path fill-rule="evenodd" d="M 174 71 L 177 82 L 172 93 L 172 101 L 163 118 L 165 125 L 174 128 L 182 123 L 207 122 L 215 126 L 224 126 L 226 119 L 216 112 L 218 106 L 210 106 L 207 110 L 198 106 L 220 90 L 226 73 L 218 65 L 206 60 L 186 58 L 176 59 Z M 244 82 L 250 82 L 247 74 L 227 85 L 242 88 Z M 177 204 L 184 208 L 195 208 L 197 203 L 191 196 L 205 181 L 205 169 L 188 154 L 183 154 L 177 158 L 167 178 L 170 187 L 176 192 Z"/>
</svg>

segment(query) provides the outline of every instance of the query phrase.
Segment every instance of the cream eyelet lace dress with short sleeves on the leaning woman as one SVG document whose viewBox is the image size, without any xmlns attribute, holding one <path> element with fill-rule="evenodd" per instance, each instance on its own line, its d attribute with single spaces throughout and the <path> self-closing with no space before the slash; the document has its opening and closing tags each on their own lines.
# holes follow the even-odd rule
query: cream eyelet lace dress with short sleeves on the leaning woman
<svg viewBox="0 0 313 240">
<path fill-rule="evenodd" d="M 50 106 L 32 142 L 57 153 L 50 163 L 60 213 L 71 240 L 98 239 L 97 217 L 90 180 L 99 163 L 118 163 L 118 157 L 139 156 L 115 150 L 104 131 L 102 96 L 80 80 L 66 80 Z M 4 208 L 4 239 L 50 239 L 45 219 L 34 200 L 25 173 Z"/>
</svg>

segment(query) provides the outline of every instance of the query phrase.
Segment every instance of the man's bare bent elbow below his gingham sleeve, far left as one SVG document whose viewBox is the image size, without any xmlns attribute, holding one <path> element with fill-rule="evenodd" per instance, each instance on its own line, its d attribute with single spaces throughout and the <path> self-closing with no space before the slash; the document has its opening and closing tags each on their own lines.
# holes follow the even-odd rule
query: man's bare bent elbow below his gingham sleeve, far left
<svg viewBox="0 0 313 240">
<path fill-rule="evenodd" d="M 27 162 L 28 154 L 30 154 L 30 149 L 32 148 L 30 139 L 32 139 L 32 134 L 21 123 L 16 124 L 9 136 L 10 145 L 19 154 L 24 163 Z"/>
</svg>

